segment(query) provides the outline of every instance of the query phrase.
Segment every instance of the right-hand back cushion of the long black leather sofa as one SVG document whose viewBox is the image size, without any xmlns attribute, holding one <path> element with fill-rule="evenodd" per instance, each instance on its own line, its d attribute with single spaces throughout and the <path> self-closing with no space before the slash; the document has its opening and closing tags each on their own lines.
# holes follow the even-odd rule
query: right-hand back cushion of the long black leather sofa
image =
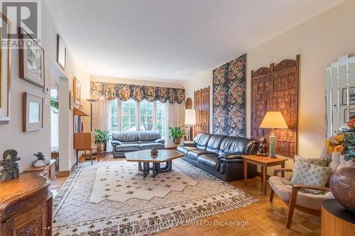
<svg viewBox="0 0 355 236">
<path fill-rule="evenodd" d="M 225 137 L 219 148 L 219 154 L 249 154 L 256 140 L 246 137 Z"/>
</svg>

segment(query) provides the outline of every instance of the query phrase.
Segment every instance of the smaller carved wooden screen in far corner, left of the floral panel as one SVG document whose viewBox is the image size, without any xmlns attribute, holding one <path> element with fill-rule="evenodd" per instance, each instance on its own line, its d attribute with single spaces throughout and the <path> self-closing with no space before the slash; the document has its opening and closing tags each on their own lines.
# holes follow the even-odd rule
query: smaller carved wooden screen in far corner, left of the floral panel
<svg viewBox="0 0 355 236">
<path fill-rule="evenodd" d="M 194 108 L 196 110 L 194 137 L 202 132 L 209 133 L 209 86 L 194 91 Z"/>
</svg>

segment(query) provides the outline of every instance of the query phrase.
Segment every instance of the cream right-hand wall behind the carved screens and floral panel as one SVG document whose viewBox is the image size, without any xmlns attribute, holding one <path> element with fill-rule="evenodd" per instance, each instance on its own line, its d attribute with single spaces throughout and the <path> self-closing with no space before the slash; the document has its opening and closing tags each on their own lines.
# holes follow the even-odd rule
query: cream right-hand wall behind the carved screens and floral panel
<svg viewBox="0 0 355 236">
<path fill-rule="evenodd" d="M 308 157 L 319 157 L 325 138 L 324 72 L 330 62 L 337 60 L 337 57 L 355 53 L 354 9 L 355 1 L 345 1 L 268 42 L 247 50 L 248 137 L 250 136 L 251 69 L 268 67 L 269 64 L 278 63 L 283 59 L 295 59 L 295 55 L 300 54 L 297 152 Z M 218 66 L 217 64 L 216 67 Z M 193 91 L 206 85 L 211 86 L 212 96 L 212 69 L 185 83 L 187 96 L 193 99 Z M 210 117 L 212 119 L 212 116 Z"/>
</svg>

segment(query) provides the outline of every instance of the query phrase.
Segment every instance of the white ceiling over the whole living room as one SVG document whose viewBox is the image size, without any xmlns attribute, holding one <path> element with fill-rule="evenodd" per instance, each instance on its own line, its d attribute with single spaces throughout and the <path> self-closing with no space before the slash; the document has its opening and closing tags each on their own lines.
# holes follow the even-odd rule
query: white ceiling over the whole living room
<svg viewBox="0 0 355 236">
<path fill-rule="evenodd" d="M 47 0 L 85 72 L 182 82 L 343 0 Z"/>
</svg>

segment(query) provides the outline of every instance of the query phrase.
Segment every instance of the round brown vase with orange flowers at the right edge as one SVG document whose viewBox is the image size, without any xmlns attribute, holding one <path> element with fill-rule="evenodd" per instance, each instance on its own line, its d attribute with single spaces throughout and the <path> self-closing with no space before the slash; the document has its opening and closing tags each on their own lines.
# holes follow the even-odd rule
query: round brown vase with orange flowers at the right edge
<svg viewBox="0 0 355 236">
<path fill-rule="evenodd" d="M 344 155 L 346 162 L 355 160 L 355 118 L 347 123 L 349 128 L 341 128 L 337 136 L 325 140 L 327 152 L 339 152 Z M 351 167 L 338 169 L 330 178 L 329 187 L 334 198 L 346 209 L 355 212 L 355 168 Z"/>
</svg>

